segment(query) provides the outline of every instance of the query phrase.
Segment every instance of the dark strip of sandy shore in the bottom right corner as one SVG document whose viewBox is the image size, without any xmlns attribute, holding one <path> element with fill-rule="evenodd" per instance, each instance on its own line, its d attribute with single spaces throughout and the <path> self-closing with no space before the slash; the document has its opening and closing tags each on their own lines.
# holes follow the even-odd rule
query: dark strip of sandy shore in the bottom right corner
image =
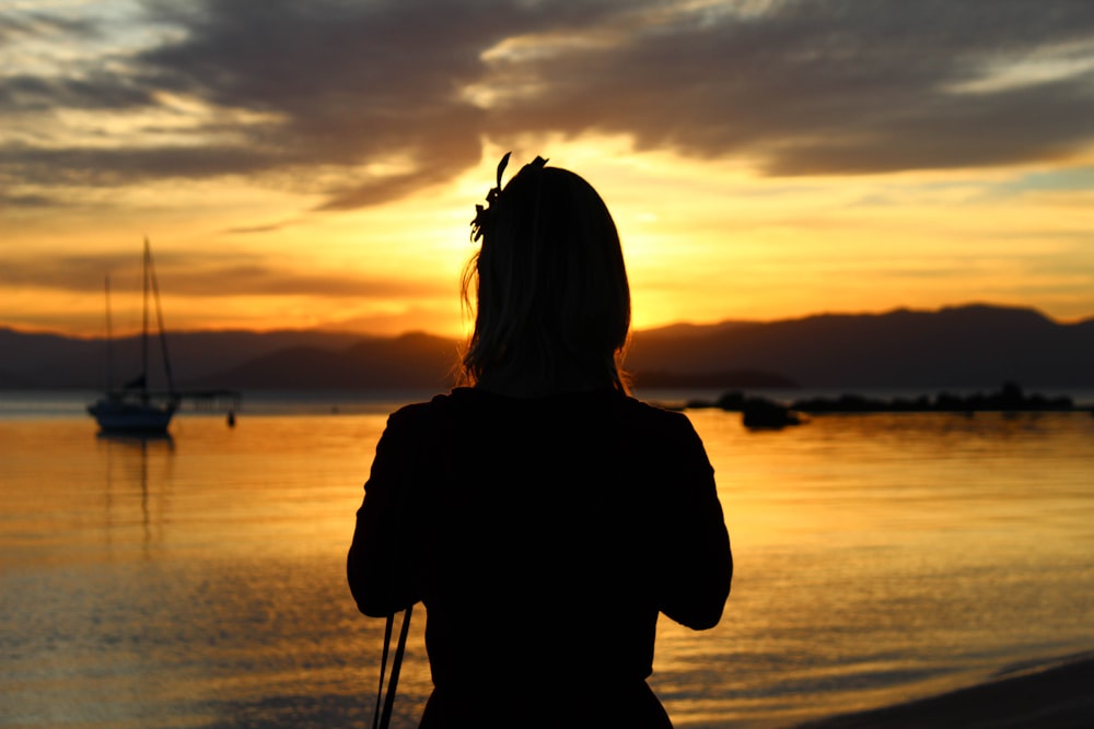
<svg viewBox="0 0 1094 729">
<path fill-rule="evenodd" d="M 1094 727 L 1094 655 L 1011 671 L 970 689 L 803 724 L 800 729 L 1089 729 Z"/>
</svg>

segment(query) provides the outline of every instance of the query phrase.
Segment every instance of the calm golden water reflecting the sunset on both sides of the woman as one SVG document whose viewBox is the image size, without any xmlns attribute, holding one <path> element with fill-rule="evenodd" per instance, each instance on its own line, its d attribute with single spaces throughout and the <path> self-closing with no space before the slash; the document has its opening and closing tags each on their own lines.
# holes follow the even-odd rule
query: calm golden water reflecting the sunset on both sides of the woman
<svg viewBox="0 0 1094 729">
<path fill-rule="evenodd" d="M 0 727 L 371 720 L 383 625 L 344 558 L 389 404 L 315 403 L 140 442 L 96 437 L 79 398 L 0 400 Z M 1090 414 L 690 416 L 737 572 L 718 628 L 659 628 L 677 726 L 781 727 L 1094 649 Z M 422 623 L 398 726 L 429 691 Z"/>
</svg>

